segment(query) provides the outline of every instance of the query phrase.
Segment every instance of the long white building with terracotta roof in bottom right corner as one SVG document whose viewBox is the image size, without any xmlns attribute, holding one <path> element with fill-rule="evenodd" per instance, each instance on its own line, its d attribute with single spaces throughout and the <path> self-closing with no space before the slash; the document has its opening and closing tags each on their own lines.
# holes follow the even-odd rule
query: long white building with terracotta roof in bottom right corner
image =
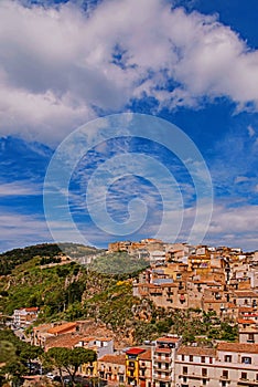
<svg viewBox="0 0 258 387">
<path fill-rule="evenodd" d="M 258 386 L 258 345 L 219 343 L 216 349 L 183 346 L 175 360 L 175 386 Z"/>
</svg>

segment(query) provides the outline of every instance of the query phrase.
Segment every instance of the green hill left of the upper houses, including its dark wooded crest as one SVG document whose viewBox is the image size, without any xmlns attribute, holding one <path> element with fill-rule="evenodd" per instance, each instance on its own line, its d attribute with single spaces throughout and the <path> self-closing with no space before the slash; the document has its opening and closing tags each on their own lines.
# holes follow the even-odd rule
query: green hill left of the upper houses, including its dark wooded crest
<svg viewBox="0 0 258 387">
<path fill-rule="evenodd" d="M 121 324 L 125 305 L 125 315 L 129 316 L 130 307 L 138 302 L 131 295 L 130 278 L 147 263 L 130 259 L 125 253 L 105 254 L 95 248 L 66 243 L 65 249 L 73 257 L 76 253 L 77 257 L 99 254 L 99 259 L 90 266 L 76 261 L 62 263 L 58 260 L 62 252 L 55 244 L 17 249 L 2 254 L 2 262 L 10 259 L 10 273 L 1 276 L 0 312 L 11 315 L 14 308 L 39 306 L 42 311 L 40 321 L 44 322 L 94 317 L 98 311 L 104 322 L 111 323 L 114 327 Z M 119 280 L 128 281 L 117 284 Z M 110 315 L 104 305 L 114 311 L 120 310 L 116 321 L 111 318 L 115 313 Z"/>
</svg>

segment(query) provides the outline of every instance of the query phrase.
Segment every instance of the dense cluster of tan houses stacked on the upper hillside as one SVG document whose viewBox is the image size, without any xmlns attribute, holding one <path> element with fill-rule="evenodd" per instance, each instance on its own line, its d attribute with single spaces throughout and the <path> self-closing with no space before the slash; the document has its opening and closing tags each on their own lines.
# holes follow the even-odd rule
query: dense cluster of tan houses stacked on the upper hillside
<svg viewBox="0 0 258 387">
<path fill-rule="evenodd" d="M 131 252 L 135 244 L 118 242 L 119 249 L 125 248 L 123 243 Z M 109 249 L 117 248 L 115 244 Z M 159 244 L 160 250 L 150 252 L 151 266 L 135 281 L 135 296 L 148 297 L 165 308 L 215 311 L 222 318 L 248 320 L 256 324 L 258 251 L 243 253 L 240 249 L 226 247 L 192 247 L 154 240 L 146 244 L 155 248 Z"/>
</svg>

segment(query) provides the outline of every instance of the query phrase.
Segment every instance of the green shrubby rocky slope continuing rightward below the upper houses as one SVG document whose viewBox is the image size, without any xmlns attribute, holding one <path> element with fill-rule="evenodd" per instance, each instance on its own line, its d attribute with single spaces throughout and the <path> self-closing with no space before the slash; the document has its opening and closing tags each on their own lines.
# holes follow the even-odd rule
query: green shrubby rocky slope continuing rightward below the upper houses
<svg viewBox="0 0 258 387">
<path fill-rule="evenodd" d="M 138 275 L 139 266 L 131 265 L 125 253 L 120 253 L 122 270 L 118 272 L 119 253 L 101 253 L 99 262 L 96 260 L 92 266 L 74 261 L 41 266 L 42 257 L 51 257 L 45 249 L 44 245 L 41 254 L 36 247 L 34 258 L 17 265 L 11 275 L 1 278 L 0 312 L 4 315 L 18 307 L 39 306 L 37 323 L 94 318 L 106 323 L 119 337 L 130 337 L 136 343 L 163 333 L 180 334 L 184 343 L 197 341 L 208 345 L 215 338 L 237 337 L 237 327 L 221 322 L 214 313 L 165 311 L 154 307 L 149 300 L 133 297 L 132 279 Z M 127 264 L 131 269 L 129 273 L 125 270 Z M 112 273 L 104 274 L 109 268 Z"/>
</svg>

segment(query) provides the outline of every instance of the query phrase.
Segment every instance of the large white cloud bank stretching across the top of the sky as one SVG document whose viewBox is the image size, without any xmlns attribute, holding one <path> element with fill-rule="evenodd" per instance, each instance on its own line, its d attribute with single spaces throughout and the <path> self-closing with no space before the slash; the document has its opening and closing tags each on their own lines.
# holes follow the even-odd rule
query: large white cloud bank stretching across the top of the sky
<svg viewBox="0 0 258 387">
<path fill-rule="evenodd" d="M 3 0 L 0 12 L 3 135 L 56 143 L 96 107 L 119 111 L 143 95 L 169 108 L 217 96 L 258 108 L 258 51 L 215 17 L 163 0 L 104 1 L 87 14 Z"/>
</svg>

